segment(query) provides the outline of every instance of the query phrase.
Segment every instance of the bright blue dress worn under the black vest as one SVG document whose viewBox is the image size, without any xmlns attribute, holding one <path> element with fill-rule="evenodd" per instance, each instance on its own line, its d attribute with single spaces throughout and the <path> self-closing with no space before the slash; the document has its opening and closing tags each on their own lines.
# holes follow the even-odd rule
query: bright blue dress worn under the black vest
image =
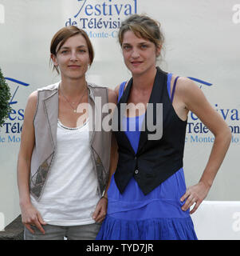
<svg viewBox="0 0 240 256">
<path fill-rule="evenodd" d="M 167 74 L 169 95 L 171 76 Z M 119 99 L 123 92 L 124 83 L 120 86 Z M 127 128 L 125 133 L 135 152 L 143 120 L 144 115 L 123 120 Z M 132 129 L 135 126 L 136 130 Z M 196 240 L 189 210 L 181 209 L 184 202 L 180 202 L 180 198 L 185 191 L 183 168 L 147 195 L 133 177 L 124 193 L 120 194 L 113 174 L 108 189 L 108 214 L 96 240 Z"/>
</svg>

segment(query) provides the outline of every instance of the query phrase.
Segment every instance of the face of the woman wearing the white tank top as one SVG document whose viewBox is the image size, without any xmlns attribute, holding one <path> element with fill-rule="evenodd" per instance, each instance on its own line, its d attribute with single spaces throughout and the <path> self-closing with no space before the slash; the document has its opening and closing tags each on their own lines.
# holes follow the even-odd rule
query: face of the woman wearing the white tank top
<svg viewBox="0 0 240 256">
<path fill-rule="evenodd" d="M 62 79 L 85 78 L 90 64 L 88 45 L 81 34 L 68 38 L 60 49 L 57 46 L 57 54 L 51 54 L 51 58 L 59 67 Z"/>
</svg>

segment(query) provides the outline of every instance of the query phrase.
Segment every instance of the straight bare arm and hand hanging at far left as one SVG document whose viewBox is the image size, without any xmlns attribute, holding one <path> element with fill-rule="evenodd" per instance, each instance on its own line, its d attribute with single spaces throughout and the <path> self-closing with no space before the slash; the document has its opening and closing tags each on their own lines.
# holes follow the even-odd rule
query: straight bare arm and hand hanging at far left
<svg viewBox="0 0 240 256">
<path fill-rule="evenodd" d="M 28 99 L 24 122 L 22 126 L 21 145 L 18 154 L 18 191 L 19 203 L 22 210 L 22 222 L 31 233 L 33 230 L 30 225 L 35 225 L 42 233 L 44 230 L 41 227 L 43 222 L 41 215 L 32 206 L 30 202 L 30 165 L 33 146 L 35 143 L 33 116 L 37 105 L 37 92 L 30 94 Z"/>
</svg>

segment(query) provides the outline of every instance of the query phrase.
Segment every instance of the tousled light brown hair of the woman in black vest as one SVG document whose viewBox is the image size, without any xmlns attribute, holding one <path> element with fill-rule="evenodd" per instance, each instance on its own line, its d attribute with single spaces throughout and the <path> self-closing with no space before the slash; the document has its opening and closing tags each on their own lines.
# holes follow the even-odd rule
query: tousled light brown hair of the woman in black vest
<svg viewBox="0 0 240 256">
<path fill-rule="evenodd" d="M 163 46 L 164 37 L 160 31 L 160 23 L 144 14 L 133 14 L 120 25 L 118 39 L 122 46 L 124 33 L 131 30 L 136 37 L 153 42 L 156 47 Z"/>
</svg>

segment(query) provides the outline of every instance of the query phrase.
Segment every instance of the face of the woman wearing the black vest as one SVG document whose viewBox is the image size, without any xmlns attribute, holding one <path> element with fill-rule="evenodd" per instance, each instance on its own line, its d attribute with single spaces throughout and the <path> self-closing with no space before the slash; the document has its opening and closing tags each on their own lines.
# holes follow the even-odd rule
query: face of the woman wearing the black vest
<svg viewBox="0 0 240 256">
<path fill-rule="evenodd" d="M 155 70 L 156 57 L 160 49 L 153 42 L 138 38 L 131 30 L 124 33 L 122 50 L 124 62 L 132 75 L 140 75 Z"/>
</svg>

